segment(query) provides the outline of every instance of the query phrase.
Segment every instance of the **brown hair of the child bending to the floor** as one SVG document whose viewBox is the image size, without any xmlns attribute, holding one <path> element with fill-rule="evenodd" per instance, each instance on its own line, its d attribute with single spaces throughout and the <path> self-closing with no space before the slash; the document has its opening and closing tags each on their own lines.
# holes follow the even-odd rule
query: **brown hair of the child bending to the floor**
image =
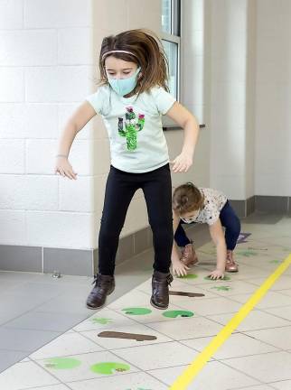
<svg viewBox="0 0 291 390">
<path fill-rule="evenodd" d="M 179 215 L 186 212 L 202 209 L 203 196 L 201 191 L 192 182 L 187 182 L 174 190 L 173 209 Z"/>
</svg>

